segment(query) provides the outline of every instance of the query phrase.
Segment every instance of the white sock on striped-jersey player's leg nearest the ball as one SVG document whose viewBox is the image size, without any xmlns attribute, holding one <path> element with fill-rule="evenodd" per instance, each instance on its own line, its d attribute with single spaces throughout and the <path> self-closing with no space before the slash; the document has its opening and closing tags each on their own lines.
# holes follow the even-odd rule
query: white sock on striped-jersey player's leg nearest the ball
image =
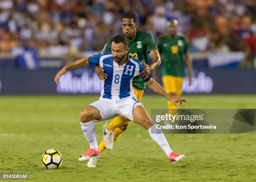
<svg viewBox="0 0 256 182">
<path fill-rule="evenodd" d="M 90 143 L 90 148 L 94 150 L 98 150 L 98 144 L 96 140 L 96 135 L 95 135 L 95 125 L 94 122 L 80 122 L 81 123 L 81 128 L 82 132 L 84 133 L 85 138 L 87 141 Z"/>
</svg>

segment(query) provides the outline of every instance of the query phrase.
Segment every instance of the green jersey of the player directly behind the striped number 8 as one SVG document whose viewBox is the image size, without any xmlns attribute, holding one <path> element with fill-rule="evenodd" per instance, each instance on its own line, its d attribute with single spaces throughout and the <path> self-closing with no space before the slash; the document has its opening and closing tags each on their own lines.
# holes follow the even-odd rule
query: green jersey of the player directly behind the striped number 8
<svg viewBox="0 0 256 182">
<path fill-rule="evenodd" d="M 120 34 L 124 36 L 124 34 Z M 108 40 L 105 44 L 103 51 L 111 52 L 111 44 L 113 39 Z M 127 40 L 129 43 L 130 50 L 128 51 L 128 55 L 135 57 L 136 59 L 145 62 L 148 64 L 148 53 L 151 50 L 156 50 L 156 42 L 151 33 L 148 32 L 140 32 L 137 31 L 136 38 L 134 40 Z M 146 84 L 141 80 L 141 77 L 133 78 L 133 87 L 138 90 L 145 90 Z"/>
</svg>

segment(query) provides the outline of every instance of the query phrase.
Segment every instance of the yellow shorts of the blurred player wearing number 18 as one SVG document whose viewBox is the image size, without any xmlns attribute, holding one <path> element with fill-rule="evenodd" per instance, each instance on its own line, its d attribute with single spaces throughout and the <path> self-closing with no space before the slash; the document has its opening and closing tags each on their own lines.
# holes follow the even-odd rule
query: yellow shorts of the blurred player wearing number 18
<svg viewBox="0 0 256 182">
<path fill-rule="evenodd" d="M 171 75 L 165 75 L 162 77 L 164 88 L 169 94 L 181 95 L 183 77 L 174 77 Z"/>
</svg>

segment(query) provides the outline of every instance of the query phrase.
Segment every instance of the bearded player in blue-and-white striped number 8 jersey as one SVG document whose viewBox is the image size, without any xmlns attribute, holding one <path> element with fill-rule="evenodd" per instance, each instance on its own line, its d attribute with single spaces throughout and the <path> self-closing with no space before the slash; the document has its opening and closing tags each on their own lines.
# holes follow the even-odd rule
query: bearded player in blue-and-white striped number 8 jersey
<svg viewBox="0 0 256 182">
<path fill-rule="evenodd" d="M 100 65 L 108 75 L 106 80 L 102 80 L 100 99 L 85 107 L 80 114 L 81 128 L 85 138 L 90 143 L 90 149 L 87 149 L 87 152 L 79 157 L 79 161 L 89 160 L 88 167 L 96 166 L 100 150 L 95 136 L 94 122 L 108 120 L 120 115 L 147 129 L 152 139 L 164 150 L 170 162 L 180 162 L 184 155 L 171 150 L 162 131 L 156 129 L 156 125 L 151 121 L 142 103 L 136 100 L 134 95 L 132 80 L 144 69 L 144 63 L 127 55 L 128 42 L 120 35 L 114 37 L 111 49 L 112 52 L 101 52 L 91 57 L 84 57 L 63 67 L 54 79 L 56 83 L 59 83 L 59 78 L 67 70 L 89 64 Z M 176 107 L 177 102 L 187 102 L 186 99 L 168 94 L 163 87 L 151 78 L 151 75 L 142 79 L 151 90 L 166 97 Z M 104 137 L 108 137 L 109 140 L 105 145 L 108 150 L 111 150 L 113 147 L 113 132 L 106 130 L 105 127 Z"/>
</svg>

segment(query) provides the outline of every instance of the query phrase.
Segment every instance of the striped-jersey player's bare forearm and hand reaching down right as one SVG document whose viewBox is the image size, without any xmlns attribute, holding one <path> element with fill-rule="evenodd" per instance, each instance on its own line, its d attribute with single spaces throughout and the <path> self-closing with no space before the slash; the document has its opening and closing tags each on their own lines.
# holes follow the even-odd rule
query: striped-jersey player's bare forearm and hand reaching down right
<svg viewBox="0 0 256 182">
<path fill-rule="evenodd" d="M 166 97 L 166 99 L 168 99 L 169 101 L 172 102 L 173 105 L 175 105 L 175 107 L 178 108 L 177 103 L 180 102 L 180 104 L 182 104 L 182 102 L 187 102 L 187 99 L 182 99 L 179 98 L 179 96 L 174 96 L 171 95 L 169 93 L 166 92 L 166 90 L 164 90 L 163 87 L 161 87 L 161 85 L 159 85 L 158 82 L 156 82 L 153 78 L 151 78 L 150 80 L 148 80 L 146 82 L 147 86 L 153 90 L 154 92 L 156 92 L 159 95 L 162 95 L 164 97 Z"/>
</svg>

